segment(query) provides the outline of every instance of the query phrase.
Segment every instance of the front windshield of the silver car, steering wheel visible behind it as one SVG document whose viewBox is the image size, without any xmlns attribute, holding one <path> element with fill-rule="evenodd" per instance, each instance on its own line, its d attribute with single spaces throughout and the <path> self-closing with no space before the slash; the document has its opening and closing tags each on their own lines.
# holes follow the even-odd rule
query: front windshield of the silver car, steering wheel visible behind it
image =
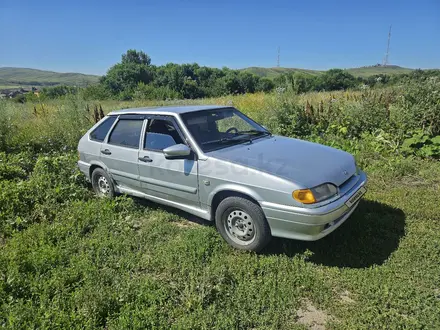
<svg viewBox="0 0 440 330">
<path fill-rule="evenodd" d="M 270 135 L 269 131 L 234 108 L 189 112 L 182 114 L 182 119 L 203 152 Z"/>
</svg>

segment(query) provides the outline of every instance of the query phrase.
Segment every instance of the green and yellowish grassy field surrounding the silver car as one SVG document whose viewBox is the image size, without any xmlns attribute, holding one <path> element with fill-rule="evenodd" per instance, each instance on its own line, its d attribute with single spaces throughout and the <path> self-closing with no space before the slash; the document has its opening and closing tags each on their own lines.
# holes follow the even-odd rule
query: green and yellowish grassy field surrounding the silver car
<svg viewBox="0 0 440 330">
<path fill-rule="evenodd" d="M 385 90 L 167 102 L 72 97 L 37 104 L 37 114 L 33 104 L 0 101 L 0 325 L 440 328 L 440 166 L 402 156 L 395 147 L 391 133 L 410 122 L 398 121 L 397 114 L 407 111 L 401 99 L 413 100 L 411 111 L 417 103 L 411 90 L 394 92 L 400 97 Z M 425 95 L 424 87 L 417 85 L 414 93 Z M 261 254 L 242 253 L 212 224 L 189 214 L 125 196 L 94 197 L 76 169 L 77 140 L 92 125 L 87 104 L 100 103 L 106 112 L 233 104 L 274 132 L 297 136 L 296 121 L 303 120 L 307 102 L 318 109 L 306 118 L 309 124 L 329 125 L 303 138 L 352 152 L 369 176 L 367 195 L 353 216 L 317 242 L 274 239 Z M 396 126 L 387 128 L 382 112 L 374 110 L 383 102 L 388 110 L 380 111 L 389 111 Z M 424 111 L 429 104 L 424 97 Z M 366 110 L 372 114 L 356 122 Z M 306 131 L 307 123 L 301 124 Z M 368 123 L 382 132 L 372 128 L 365 135 Z M 357 125 L 363 128 L 360 137 Z"/>
</svg>

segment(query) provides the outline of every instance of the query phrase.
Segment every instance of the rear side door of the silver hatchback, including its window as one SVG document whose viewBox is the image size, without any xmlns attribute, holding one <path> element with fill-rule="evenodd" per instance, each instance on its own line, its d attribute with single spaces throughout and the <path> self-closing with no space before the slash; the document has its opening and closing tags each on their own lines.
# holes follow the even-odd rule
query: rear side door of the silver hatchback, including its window
<svg viewBox="0 0 440 330">
<path fill-rule="evenodd" d="M 101 145 L 101 161 L 116 184 L 140 189 L 138 157 L 144 116 L 120 115 Z"/>
</svg>

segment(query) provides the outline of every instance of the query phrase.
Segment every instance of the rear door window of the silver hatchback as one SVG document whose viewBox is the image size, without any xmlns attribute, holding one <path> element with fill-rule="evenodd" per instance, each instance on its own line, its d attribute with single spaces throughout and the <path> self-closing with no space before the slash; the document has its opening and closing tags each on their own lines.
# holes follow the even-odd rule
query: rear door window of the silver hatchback
<svg viewBox="0 0 440 330">
<path fill-rule="evenodd" d="M 143 120 L 140 119 L 119 120 L 110 134 L 108 143 L 124 147 L 138 148 L 142 123 Z"/>
</svg>

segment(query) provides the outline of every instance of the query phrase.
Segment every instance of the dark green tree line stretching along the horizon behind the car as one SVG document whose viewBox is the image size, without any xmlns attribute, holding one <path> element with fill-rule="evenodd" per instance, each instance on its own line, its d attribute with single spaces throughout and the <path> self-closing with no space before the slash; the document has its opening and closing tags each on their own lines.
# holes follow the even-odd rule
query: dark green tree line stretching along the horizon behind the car
<svg viewBox="0 0 440 330">
<path fill-rule="evenodd" d="M 87 99 L 195 99 L 230 94 L 289 90 L 296 94 L 310 91 L 333 91 L 396 84 L 414 79 L 440 76 L 439 70 L 414 70 L 409 74 L 354 77 L 341 69 L 321 74 L 291 72 L 274 79 L 260 77 L 245 70 L 210 68 L 193 64 L 151 64 L 142 51 L 128 50 L 121 61 L 101 77 L 99 84 L 86 88 L 56 86 L 43 88 L 42 95 L 57 98 L 82 93 Z"/>
</svg>

